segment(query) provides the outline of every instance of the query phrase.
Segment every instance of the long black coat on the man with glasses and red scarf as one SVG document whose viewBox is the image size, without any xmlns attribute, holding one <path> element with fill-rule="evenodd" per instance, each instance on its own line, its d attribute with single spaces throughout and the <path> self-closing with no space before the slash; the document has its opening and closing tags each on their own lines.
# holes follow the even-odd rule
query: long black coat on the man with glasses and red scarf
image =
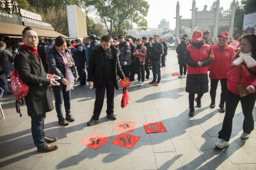
<svg viewBox="0 0 256 170">
<path fill-rule="evenodd" d="M 14 59 L 14 67 L 22 81 L 29 86 L 25 97 L 28 115 L 35 117 L 54 109 L 52 97 L 48 88 L 51 80 L 46 78 L 44 66 L 36 55 L 22 46 L 20 53 Z"/>
</svg>

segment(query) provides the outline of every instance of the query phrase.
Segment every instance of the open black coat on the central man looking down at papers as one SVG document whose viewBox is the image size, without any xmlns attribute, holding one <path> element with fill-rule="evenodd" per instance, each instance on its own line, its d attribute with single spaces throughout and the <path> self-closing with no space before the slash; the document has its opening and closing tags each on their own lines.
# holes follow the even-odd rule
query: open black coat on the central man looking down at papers
<svg viewBox="0 0 256 170">
<path fill-rule="evenodd" d="M 88 81 L 93 81 L 95 87 L 102 87 L 103 85 L 103 55 L 100 53 L 100 48 L 96 48 L 93 50 L 92 55 L 90 55 L 89 59 L 89 68 L 88 68 Z M 124 73 L 121 69 L 120 62 L 119 62 L 119 54 L 120 50 L 115 48 L 115 46 L 111 45 L 111 53 L 113 55 L 113 80 L 115 83 L 116 90 L 118 90 L 118 76 L 123 80 L 125 78 Z"/>
</svg>

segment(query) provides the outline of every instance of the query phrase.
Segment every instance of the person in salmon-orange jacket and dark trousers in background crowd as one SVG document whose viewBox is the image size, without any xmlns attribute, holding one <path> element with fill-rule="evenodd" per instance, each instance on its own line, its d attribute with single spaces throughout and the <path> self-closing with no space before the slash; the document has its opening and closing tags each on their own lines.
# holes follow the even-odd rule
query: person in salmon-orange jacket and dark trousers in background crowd
<svg viewBox="0 0 256 170">
<path fill-rule="evenodd" d="M 135 66 L 138 73 L 138 81 L 135 84 L 144 85 L 145 80 L 145 59 L 147 57 L 147 48 L 142 45 L 141 39 L 137 39 L 137 46 L 132 55 L 135 57 Z M 141 80 L 141 81 L 140 81 Z"/>
</svg>

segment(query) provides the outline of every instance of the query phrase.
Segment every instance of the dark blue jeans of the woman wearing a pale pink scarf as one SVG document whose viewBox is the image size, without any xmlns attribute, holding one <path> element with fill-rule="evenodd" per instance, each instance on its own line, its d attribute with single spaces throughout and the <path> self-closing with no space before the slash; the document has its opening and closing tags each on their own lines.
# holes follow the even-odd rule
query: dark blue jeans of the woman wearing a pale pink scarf
<svg viewBox="0 0 256 170">
<path fill-rule="evenodd" d="M 55 108 L 57 111 L 57 117 L 59 118 L 59 120 L 61 120 L 63 118 L 63 113 L 61 110 L 61 105 L 63 103 L 63 99 L 64 99 L 64 106 L 65 106 L 65 111 L 66 111 L 66 115 L 68 115 L 71 111 L 70 111 L 70 90 L 68 90 L 66 92 L 66 85 L 63 85 L 63 83 L 60 83 L 60 85 L 54 85 L 52 86 L 52 91 L 54 93 L 54 97 L 55 97 Z"/>
</svg>

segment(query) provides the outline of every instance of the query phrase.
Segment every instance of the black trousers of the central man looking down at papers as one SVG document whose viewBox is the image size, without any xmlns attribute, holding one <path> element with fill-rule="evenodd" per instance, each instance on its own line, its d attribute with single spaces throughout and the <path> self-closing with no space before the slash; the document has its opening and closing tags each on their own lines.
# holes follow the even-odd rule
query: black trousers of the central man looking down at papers
<svg viewBox="0 0 256 170">
<path fill-rule="evenodd" d="M 113 80 L 103 81 L 102 87 L 96 87 L 95 94 L 96 99 L 94 103 L 94 110 L 92 118 L 94 120 L 98 120 L 100 117 L 100 112 L 102 110 L 105 90 L 107 89 L 107 114 L 113 115 L 114 114 L 114 91 L 115 91 L 115 84 Z"/>
</svg>

